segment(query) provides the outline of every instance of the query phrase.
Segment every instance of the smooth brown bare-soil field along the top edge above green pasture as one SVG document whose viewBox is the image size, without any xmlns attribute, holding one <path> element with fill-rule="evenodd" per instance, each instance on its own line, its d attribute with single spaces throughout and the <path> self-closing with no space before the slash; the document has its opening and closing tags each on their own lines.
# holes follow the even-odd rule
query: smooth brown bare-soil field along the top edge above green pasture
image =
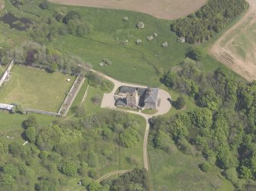
<svg viewBox="0 0 256 191">
<path fill-rule="evenodd" d="M 151 14 L 156 18 L 183 18 L 206 4 L 207 0 L 49 0 L 64 5 L 114 8 Z"/>
</svg>

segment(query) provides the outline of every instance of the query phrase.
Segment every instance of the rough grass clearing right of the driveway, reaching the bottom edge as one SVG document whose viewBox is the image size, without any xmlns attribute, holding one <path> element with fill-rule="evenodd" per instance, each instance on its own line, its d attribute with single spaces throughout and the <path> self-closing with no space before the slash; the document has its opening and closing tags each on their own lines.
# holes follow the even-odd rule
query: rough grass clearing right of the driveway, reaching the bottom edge
<svg viewBox="0 0 256 191">
<path fill-rule="evenodd" d="M 232 183 L 225 180 L 218 169 L 203 173 L 198 167 L 203 158 L 183 154 L 174 144 L 171 154 L 151 146 L 148 151 L 154 190 L 234 190 Z"/>
</svg>

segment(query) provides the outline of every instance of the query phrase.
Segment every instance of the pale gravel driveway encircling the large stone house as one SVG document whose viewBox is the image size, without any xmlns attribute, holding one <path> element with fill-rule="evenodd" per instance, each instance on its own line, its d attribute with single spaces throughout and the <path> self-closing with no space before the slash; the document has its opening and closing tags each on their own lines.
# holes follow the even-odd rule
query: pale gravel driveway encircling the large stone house
<svg viewBox="0 0 256 191">
<path fill-rule="evenodd" d="M 170 97 L 170 94 L 167 91 L 164 91 L 162 89 L 159 90 L 160 107 L 158 108 L 158 112 L 153 115 L 141 113 L 141 110 L 139 112 L 133 111 L 133 110 L 122 110 L 118 107 L 115 107 L 115 97 L 114 97 L 115 92 L 117 91 L 117 89 L 120 86 L 129 86 L 129 87 L 138 87 L 138 88 L 147 88 L 147 86 L 141 85 L 141 84 L 130 84 L 130 83 L 118 81 L 114 78 L 109 77 L 108 75 L 102 74 L 101 72 L 96 72 L 95 70 L 91 70 L 91 71 L 95 72 L 97 75 L 102 76 L 103 78 L 108 79 L 109 81 L 112 81 L 112 83 L 114 84 L 114 88 L 113 88 L 112 92 L 109 94 L 104 94 L 104 96 L 102 98 L 102 103 L 101 103 L 102 108 L 108 108 L 108 109 L 112 109 L 112 110 L 121 110 L 123 112 L 133 113 L 136 115 L 143 116 L 144 119 L 146 120 L 147 126 L 146 126 L 145 133 L 144 133 L 143 157 L 144 157 L 144 168 L 146 170 L 148 170 L 148 158 L 147 158 L 147 137 L 148 137 L 148 132 L 149 132 L 148 120 L 151 119 L 151 117 L 153 117 L 153 116 L 164 115 L 165 113 L 167 113 L 170 110 L 171 105 L 170 105 L 170 102 L 167 100 L 167 98 Z"/>
</svg>

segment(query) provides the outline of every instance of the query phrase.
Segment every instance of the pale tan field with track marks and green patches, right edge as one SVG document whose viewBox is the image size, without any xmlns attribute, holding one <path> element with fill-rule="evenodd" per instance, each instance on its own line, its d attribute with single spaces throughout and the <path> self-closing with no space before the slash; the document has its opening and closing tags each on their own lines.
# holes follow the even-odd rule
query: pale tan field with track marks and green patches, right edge
<svg viewBox="0 0 256 191">
<path fill-rule="evenodd" d="M 256 1 L 246 1 L 250 5 L 248 11 L 215 42 L 210 53 L 246 80 L 253 81 L 256 79 L 256 45 L 247 30 L 252 24 L 256 24 Z M 251 50 L 246 53 L 245 59 L 235 50 L 235 40 L 241 34 L 251 43 Z"/>
</svg>

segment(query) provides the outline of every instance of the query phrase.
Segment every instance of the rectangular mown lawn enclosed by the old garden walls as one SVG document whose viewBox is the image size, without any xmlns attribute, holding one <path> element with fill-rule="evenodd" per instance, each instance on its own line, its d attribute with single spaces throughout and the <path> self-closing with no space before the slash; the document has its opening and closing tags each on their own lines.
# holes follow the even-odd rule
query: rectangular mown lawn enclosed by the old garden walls
<svg viewBox="0 0 256 191">
<path fill-rule="evenodd" d="M 67 82 L 66 78 L 71 81 Z M 47 73 L 36 68 L 15 65 L 8 83 L 0 90 L 0 103 L 57 112 L 70 91 L 75 77 Z"/>
</svg>

